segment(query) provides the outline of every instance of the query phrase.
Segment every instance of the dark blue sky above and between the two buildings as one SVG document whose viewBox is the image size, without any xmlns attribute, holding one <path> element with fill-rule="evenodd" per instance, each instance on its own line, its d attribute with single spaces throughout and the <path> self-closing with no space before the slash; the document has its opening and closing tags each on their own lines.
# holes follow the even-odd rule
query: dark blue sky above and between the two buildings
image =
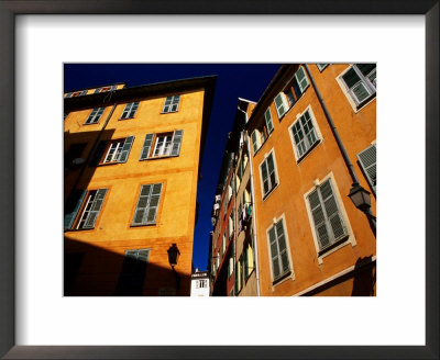
<svg viewBox="0 0 440 360">
<path fill-rule="evenodd" d="M 211 206 L 228 133 L 232 128 L 238 98 L 257 101 L 279 64 L 65 64 L 64 91 L 124 82 L 127 87 L 217 75 L 213 106 L 198 184 L 199 217 L 195 230 L 193 262 L 208 265 Z"/>
</svg>

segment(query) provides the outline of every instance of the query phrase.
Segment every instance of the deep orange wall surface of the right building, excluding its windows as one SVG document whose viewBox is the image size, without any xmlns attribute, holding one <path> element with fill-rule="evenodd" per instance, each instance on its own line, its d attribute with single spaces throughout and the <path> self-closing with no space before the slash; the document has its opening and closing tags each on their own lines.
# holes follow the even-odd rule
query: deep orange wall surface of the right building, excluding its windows
<svg viewBox="0 0 440 360">
<path fill-rule="evenodd" d="M 356 164 L 356 154 L 370 146 L 376 138 L 376 100 L 364 105 L 358 113 L 353 112 L 336 81 L 336 77 L 348 66 L 346 64 L 330 65 L 320 72 L 311 64 L 309 69 L 333 117 L 358 178 L 361 184 L 370 190 L 365 177 Z M 292 67 L 290 70 L 288 77 L 295 74 L 296 67 Z M 260 150 L 251 156 L 254 171 L 261 293 L 268 296 L 296 294 L 353 266 L 360 258 L 376 255 L 376 239 L 367 218 L 354 207 L 348 196 L 352 180 L 311 83 L 288 113 L 282 120 L 277 117 L 273 99 L 284 90 L 288 77 L 280 79 L 272 93 L 271 111 L 274 131 Z M 297 164 L 289 126 L 296 121 L 297 115 L 302 114 L 308 106 L 315 115 L 322 140 Z M 261 114 L 253 114 L 254 123 L 250 124 L 249 134 L 252 133 L 255 124 L 264 122 L 265 110 L 266 108 L 261 109 Z M 264 160 L 265 154 L 272 149 L 275 151 L 278 185 L 263 200 L 260 165 Z M 353 232 L 352 244 L 349 243 L 326 256 L 322 263 L 319 265 L 305 194 L 315 188 L 316 179 L 322 180 L 330 173 L 336 181 L 342 202 L 340 205 L 343 206 Z M 372 212 L 376 214 L 375 198 L 373 195 L 371 198 Z M 293 275 L 273 285 L 267 230 L 273 225 L 273 218 L 278 220 L 280 216 L 285 217 L 284 224 Z"/>
</svg>

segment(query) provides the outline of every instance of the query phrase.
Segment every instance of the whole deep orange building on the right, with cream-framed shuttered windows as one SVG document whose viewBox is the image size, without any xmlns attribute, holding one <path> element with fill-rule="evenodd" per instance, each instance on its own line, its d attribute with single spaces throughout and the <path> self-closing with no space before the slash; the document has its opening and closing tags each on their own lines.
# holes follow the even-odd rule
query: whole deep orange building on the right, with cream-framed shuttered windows
<svg viewBox="0 0 440 360">
<path fill-rule="evenodd" d="M 286 65 L 249 114 L 262 295 L 375 295 L 375 94 L 374 64 Z"/>
</svg>

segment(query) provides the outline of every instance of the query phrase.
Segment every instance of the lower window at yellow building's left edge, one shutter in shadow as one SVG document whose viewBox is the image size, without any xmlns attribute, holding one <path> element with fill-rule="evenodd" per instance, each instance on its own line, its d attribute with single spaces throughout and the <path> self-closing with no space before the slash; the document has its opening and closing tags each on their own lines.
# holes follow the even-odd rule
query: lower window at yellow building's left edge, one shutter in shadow
<svg viewBox="0 0 440 360">
<path fill-rule="evenodd" d="M 107 189 L 76 189 L 65 204 L 64 228 L 94 228 L 106 193 Z"/>
</svg>

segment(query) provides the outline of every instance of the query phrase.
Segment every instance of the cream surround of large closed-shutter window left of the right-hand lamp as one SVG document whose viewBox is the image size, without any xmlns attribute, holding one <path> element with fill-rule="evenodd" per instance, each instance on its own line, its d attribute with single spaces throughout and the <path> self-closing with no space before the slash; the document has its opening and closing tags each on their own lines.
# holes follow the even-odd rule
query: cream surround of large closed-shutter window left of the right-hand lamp
<svg viewBox="0 0 440 360">
<path fill-rule="evenodd" d="M 330 246 L 326 247 L 324 249 L 321 249 L 320 241 L 319 241 L 318 235 L 317 235 L 317 229 L 316 229 L 312 212 L 311 212 L 311 206 L 310 206 L 308 198 L 318 187 L 322 185 L 327 181 L 330 181 L 331 190 L 333 192 L 333 196 L 334 196 L 334 200 L 336 200 L 336 203 L 337 203 L 337 206 L 338 206 L 338 211 L 339 211 L 340 217 L 342 218 L 342 222 L 343 222 L 344 227 L 346 229 L 346 234 L 343 235 L 339 240 L 333 241 Z M 339 187 L 338 187 L 338 183 L 336 182 L 333 172 L 330 172 L 329 175 L 327 175 L 322 179 L 316 179 L 314 181 L 314 187 L 310 188 L 304 194 L 304 202 L 305 202 L 305 205 L 306 205 L 306 211 L 307 211 L 307 215 L 308 215 L 308 220 L 309 220 L 309 224 L 310 224 L 310 230 L 311 230 L 311 234 L 312 234 L 312 239 L 314 239 L 314 244 L 315 244 L 315 250 L 316 250 L 316 254 L 317 254 L 317 258 L 318 258 L 318 263 L 319 265 L 321 265 L 323 262 L 323 258 L 326 258 L 330 254 L 333 254 L 334 251 L 339 250 L 340 248 L 342 248 L 342 247 L 344 247 L 344 246 L 346 246 L 349 244 L 351 244 L 352 247 L 354 247 L 356 245 L 356 239 L 355 239 L 354 233 L 353 233 L 353 230 L 351 228 L 349 216 L 346 214 L 345 206 L 344 206 L 344 203 L 342 201 L 341 194 L 339 192 Z M 326 226 L 327 226 L 327 223 L 326 223 Z"/>
</svg>

